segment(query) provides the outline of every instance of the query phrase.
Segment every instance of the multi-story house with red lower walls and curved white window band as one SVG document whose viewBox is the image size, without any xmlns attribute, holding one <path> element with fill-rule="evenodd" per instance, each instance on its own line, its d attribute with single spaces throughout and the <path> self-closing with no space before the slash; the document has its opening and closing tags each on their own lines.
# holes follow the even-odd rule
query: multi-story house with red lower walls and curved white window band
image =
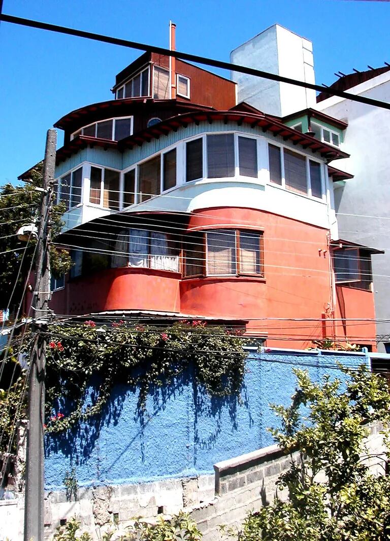
<svg viewBox="0 0 390 541">
<path fill-rule="evenodd" d="M 284 65 L 310 75 L 310 42 L 278 26 L 263 34 L 281 65 L 284 49 L 300 50 L 295 68 Z M 250 63 L 257 41 L 233 57 Z M 277 109 L 266 88 L 263 112 L 264 93 L 254 99 L 253 81 L 236 79 L 146 53 L 116 76 L 112 100 L 55 123 L 67 207 L 57 243 L 74 267 L 54 281 L 51 308 L 206 318 L 271 347 L 329 338 L 375 348 L 378 250 L 340 240 L 333 186 L 351 175 L 328 167 L 349 157 L 346 123 L 314 110 L 304 89 L 292 107 L 278 88 L 289 107 Z"/>
</svg>

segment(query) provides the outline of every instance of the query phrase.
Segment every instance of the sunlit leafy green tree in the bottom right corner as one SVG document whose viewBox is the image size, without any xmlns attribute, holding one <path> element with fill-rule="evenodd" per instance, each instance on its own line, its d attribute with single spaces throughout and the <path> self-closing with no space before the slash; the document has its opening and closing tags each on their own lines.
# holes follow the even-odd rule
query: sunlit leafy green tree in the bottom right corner
<svg viewBox="0 0 390 541">
<path fill-rule="evenodd" d="M 382 421 L 389 442 L 387 381 L 365 367 L 346 371 L 344 384 L 328 376 L 316 384 L 307 372 L 295 373 L 291 406 L 272 406 L 281 428 L 271 432 L 291 458 L 289 470 L 278 479 L 278 490 L 287 489 L 288 500 L 276 496 L 271 505 L 251 513 L 239 540 L 389 539 L 390 479 L 385 470 L 390 453 L 370 455 L 365 445 L 368 421 Z M 376 459 L 384 475 L 371 473 L 368 458 Z"/>
</svg>

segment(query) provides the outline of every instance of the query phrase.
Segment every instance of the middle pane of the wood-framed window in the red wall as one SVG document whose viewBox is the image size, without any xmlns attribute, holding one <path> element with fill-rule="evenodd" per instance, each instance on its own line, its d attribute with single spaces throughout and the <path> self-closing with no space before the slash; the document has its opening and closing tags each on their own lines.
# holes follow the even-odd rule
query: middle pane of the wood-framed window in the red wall
<svg viewBox="0 0 390 541">
<path fill-rule="evenodd" d="M 219 229 L 206 233 L 207 274 L 236 274 L 236 232 Z"/>
</svg>

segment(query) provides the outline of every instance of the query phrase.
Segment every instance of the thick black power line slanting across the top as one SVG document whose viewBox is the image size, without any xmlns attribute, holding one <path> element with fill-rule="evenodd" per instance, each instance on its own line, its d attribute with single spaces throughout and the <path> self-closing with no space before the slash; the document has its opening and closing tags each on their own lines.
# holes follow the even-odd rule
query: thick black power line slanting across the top
<svg viewBox="0 0 390 541">
<path fill-rule="evenodd" d="M 269 73 L 268 71 L 262 71 L 258 69 L 248 68 L 238 64 L 232 64 L 230 62 L 222 62 L 220 60 L 214 60 L 213 58 L 207 58 L 204 56 L 191 55 L 187 52 L 173 51 L 170 49 L 165 49 L 163 47 L 155 47 L 154 45 L 148 45 L 145 43 L 139 43 L 135 41 L 129 41 L 128 39 L 120 39 L 111 36 L 105 36 L 102 34 L 96 34 L 95 32 L 86 32 L 84 30 L 76 30 L 73 28 L 63 27 L 62 25 L 43 23 L 40 21 L 32 21 L 31 19 L 26 19 L 22 17 L 15 17 L 12 15 L 2 14 L 0 15 L 0 20 L 12 23 L 19 24 L 24 27 L 37 28 L 40 30 L 48 30 L 51 32 L 58 32 L 60 34 L 67 34 L 69 36 L 77 36 L 86 39 L 93 39 L 94 41 L 100 41 L 103 43 L 111 43 L 113 45 L 120 45 L 121 47 L 127 47 L 130 49 L 138 49 L 147 52 L 156 52 L 160 55 L 173 56 L 174 58 L 181 58 L 181 60 L 187 60 L 191 62 L 196 62 L 199 64 L 211 65 L 214 68 L 222 68 L 230 71 L 239 71 L 244 74 L 254 75 L 256 77 L 263 77 L 264 79 L 269 79 L 271 81 L 278 81 L 282 83 L 292 84 L 302 88 L 310 88 L 312 90 L 317 90 L 318 92 L 323 92 L 324 87 L 319 84 L 307 83 L 304 81 L 298 81 L 296 79 L 291 79 L 290 77 L 283 77 L 281 75 L 276 75 Z M 365 96 L 358 96 L 355 94 L 350 94 L 341 90 L 336 90 L 333 88 L 326 88 L 327 93 L 345 98 L 346 100 L 356 101 L 360 103 L 365 103 L 367 105 L 374 105 L 374 107 L 380 107 L 383 109 L 390 109 L 390 103 L 386 103 L 379 100 L 373 100 Z"/>
</svg>

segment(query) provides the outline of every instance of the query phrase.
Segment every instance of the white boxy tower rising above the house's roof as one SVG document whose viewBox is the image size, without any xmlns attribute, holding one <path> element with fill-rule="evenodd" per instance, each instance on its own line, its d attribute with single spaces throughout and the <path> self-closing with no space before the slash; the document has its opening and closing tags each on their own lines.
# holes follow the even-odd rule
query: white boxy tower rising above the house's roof
<svg viewBox="0 0 390 541">
<path fill-rule="evenodd" d="M 233 63 L 306 81 L 315 82 L 313 44 L 279 24 L 240 45 L 230 54 Z M 238 83 L 238 102 L 277 116 L 315 105 L 315 91 L 232 71 Z"/>
</svg>

